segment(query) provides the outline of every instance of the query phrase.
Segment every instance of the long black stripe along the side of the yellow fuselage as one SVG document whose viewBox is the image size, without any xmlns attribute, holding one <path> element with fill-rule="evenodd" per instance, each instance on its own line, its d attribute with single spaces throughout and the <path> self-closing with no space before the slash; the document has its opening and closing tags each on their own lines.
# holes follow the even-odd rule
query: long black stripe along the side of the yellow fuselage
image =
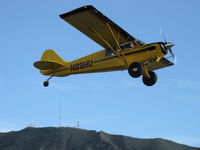
<svg viewBox="0 0 200 150">
<path fill-rule="evenodd" d="M 127 55 L 130 55 L 130 54 L 136 54 L 136 53 L 145 52 L 145 51 L 153 51 L 155 49 L 156 49 L 155 46 L 151 46 L 151 47 L 147 47 L 147 48 L 144 48 L 144 49 L 141 49 L 141 50 L 138 50 L 138 51 L 133 51 L 133 52 L 130 52 L 130 53 L 126 53 L 124 55 L 127 56 Z M 120 54 L 119 56 L 123 56 L 123 55 Z M 98 62 L 101 62 L 101 61 L 104 61 L 104 60 L 113 59 L 113 58 L 116 58 L 116 57 L 119 57 L 119 56 L 115 55 L 115 56 L 112 56 L 112 57 L 109 57 L 109 58 L 104 58 L 104 59 L 96 60 L 96 61 L 94 61 L 94 63 L 98 63 Z"/>
</svg>

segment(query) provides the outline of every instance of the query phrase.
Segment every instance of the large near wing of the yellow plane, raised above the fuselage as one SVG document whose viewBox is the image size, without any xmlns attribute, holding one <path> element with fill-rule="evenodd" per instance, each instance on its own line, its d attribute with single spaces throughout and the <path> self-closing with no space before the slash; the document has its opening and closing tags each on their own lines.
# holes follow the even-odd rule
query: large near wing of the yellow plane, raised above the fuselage
<svg viewBox="0 0 200 150">
<path fill-rule="evenodd" d="M 105 49 L 115 49 L 129 41 L 141 45 L 140 41 L 91 5 L 61 14 L 60 17 Z"/>
</svg>

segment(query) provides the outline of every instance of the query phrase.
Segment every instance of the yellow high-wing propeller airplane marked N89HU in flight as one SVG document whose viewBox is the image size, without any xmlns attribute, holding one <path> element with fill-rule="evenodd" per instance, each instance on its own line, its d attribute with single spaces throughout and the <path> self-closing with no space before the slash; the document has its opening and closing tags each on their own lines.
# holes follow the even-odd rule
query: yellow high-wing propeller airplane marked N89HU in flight
<svg viewBox="0 0 200 150">
<path fill-rule="evenodd" d="M 67 62 L 53 50 L 46 50 L 34 66 L 49 80 L 74 74 L 128 70 L 133 78 L 142 76 L 146 86 L 157 81 L 154 70 L 174 65 L 166 56 L 175 58 L 171 48 L 174 43 L 155 42 L 146 44 L 115 24 L 92 5 L 74 9 L 60 17 L 91 38 L 104 49 L 85 57 Z"/>
</svg>

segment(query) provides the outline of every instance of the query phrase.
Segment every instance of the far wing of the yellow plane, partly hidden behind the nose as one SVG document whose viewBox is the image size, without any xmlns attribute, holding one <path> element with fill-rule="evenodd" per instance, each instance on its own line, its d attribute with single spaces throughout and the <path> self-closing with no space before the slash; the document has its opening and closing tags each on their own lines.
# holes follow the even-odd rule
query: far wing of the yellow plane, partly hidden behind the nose
<svg viewBox="0 0 200 150">
<path fill-rule="evenodd" d="M 169 61 L 168 59 L 163 57 L 159 62 L 156 62 L 155 60 L 150 62 L 150 64 L 147 65 L 147 69 L 148 70 L 157 70 L 157 69 L 169 67 L 172 65 L 174 65 L 174 64 L 171 61 Z"/>
</svg>

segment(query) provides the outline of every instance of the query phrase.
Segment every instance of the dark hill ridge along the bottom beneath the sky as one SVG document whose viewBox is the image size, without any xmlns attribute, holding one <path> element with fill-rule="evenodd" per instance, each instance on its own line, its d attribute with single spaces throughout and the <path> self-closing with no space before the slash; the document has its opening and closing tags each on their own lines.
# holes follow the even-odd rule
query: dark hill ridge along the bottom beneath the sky
<svg viewBox="0 0 200 150">
<path fill-rule="evenodd" d="M 0 150 L 200 150 L 164 139 L 138 139 L 77 128 L 0 133 Z"/>
</svg>

